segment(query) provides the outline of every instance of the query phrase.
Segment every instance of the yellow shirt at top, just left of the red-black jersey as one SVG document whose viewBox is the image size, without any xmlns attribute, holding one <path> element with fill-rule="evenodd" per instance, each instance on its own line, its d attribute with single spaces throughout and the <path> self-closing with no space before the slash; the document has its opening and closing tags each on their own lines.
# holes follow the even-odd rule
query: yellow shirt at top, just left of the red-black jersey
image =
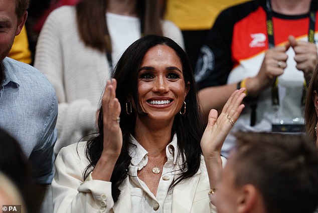
<svg viewBox="0 0 318 213">
<path fill-rule="evenodd" d="M 181 30 L 208 30 L 219 13 L 247 0 L 167 0 L 165 19 Z"/>
</svg>

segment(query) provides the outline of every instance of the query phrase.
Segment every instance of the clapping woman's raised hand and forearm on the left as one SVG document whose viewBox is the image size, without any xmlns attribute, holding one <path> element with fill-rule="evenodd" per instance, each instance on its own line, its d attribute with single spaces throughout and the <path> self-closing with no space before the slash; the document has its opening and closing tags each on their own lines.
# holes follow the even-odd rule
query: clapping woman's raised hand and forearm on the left
<svg viewBox="0 0 318 213">
<path fill-rule="evenodd" d="M 122 147 L 122 132 L 119 126 L 120 104 L 116 98 L 117 81 L 106 83 L 102 97 L 103 151 L 93 170 L 93 179 L 109 181 Z"/>
</svg>

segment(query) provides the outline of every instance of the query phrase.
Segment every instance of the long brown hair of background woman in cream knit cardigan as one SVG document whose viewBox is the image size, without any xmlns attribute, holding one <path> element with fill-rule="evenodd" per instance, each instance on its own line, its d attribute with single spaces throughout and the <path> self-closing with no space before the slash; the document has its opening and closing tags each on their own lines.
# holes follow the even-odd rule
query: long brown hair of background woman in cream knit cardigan
<svg viewBox="0 0 318 213">
<path fill-rule="evenodd" d="M 80 38 L 85 45 L 101 52 L 111 53 L 111 46 L 105 39 L 110 38 L 105 21 L 107 5 L 106 0 L 81 0 L 76 5 L 76 16 Z M 138 0 L 136 13 L 140 19 L 140 31 L 143 35 L 163 35 L 160 1 Z"/>
</svg>

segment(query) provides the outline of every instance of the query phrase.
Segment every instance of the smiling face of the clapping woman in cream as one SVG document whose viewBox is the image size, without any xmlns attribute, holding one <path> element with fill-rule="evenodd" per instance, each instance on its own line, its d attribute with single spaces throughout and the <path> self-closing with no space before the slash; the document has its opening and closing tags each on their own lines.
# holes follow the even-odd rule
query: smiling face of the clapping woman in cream
<svg viewBox="0 0 318 213">
<path fill-rule="evenodd" d="M 173 122 L 189 91 L 182 63 L 176 52 L 166 46 L 150 48 L 138 73 L 139 105 L 147 117 L 156 121 Z"/>
</svg>

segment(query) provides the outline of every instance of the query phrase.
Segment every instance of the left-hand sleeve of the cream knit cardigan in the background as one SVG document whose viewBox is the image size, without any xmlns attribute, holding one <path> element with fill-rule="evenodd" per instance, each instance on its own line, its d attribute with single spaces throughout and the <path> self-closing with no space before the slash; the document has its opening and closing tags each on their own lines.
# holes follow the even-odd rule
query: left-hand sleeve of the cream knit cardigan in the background
<svg viewBox="0 0 318 213">
<path fill-rule="evenodd" d="M 34 63 L 52 83 L 58 97 L 58 138 L 54 147 L 55 153 L 63 146 L 79 141 L 83 135 L 96 131 L 97 111 L 97 106 L 93 106 L 89 100 L 68 101 L 70 94 L 66 93 L 67 85 L 64 82 L 66 47 L 62 44 L 62 26 L 65 24 L 62 22 L 69 19 L 67 12 L 70 10 L 62 10 L 65 8 L 53 11 L 47 18 L 38 39 Z"/>
</svg>

